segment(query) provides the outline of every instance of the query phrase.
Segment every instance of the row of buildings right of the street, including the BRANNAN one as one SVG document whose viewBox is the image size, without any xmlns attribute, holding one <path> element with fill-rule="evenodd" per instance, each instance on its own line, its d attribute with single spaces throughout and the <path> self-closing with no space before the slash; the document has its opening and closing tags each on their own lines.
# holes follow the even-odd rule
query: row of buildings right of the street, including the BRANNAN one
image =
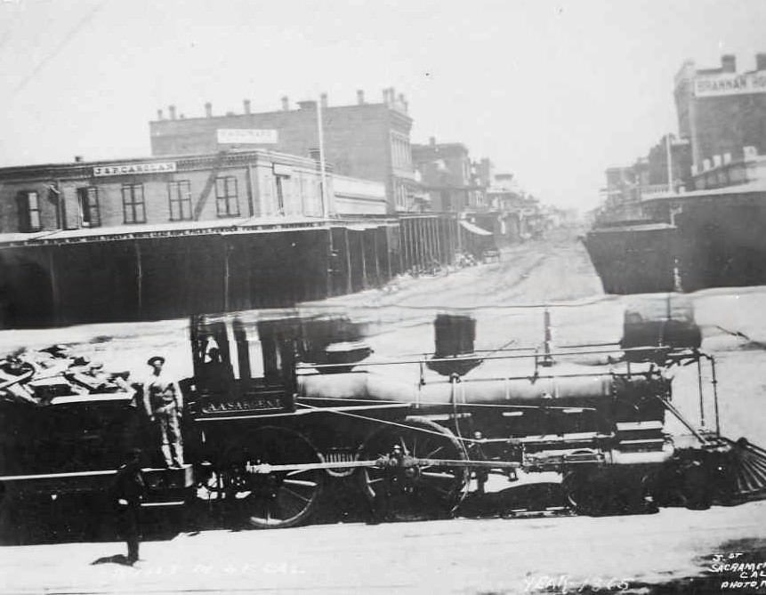
<svg viewBox="0 0 766 595">
<path fill-rule="evenodd" d="M 679 135 L 665 135 L 633 165 L 611 167 L 603 213 L 640 218 L 641 201 L 667 193 L 716 189 L 764 179 L 766 173 L 766 53 L 739 73 L 736 57 L 718 68 L 687 60 L 675 76 Z"/>
</svg>

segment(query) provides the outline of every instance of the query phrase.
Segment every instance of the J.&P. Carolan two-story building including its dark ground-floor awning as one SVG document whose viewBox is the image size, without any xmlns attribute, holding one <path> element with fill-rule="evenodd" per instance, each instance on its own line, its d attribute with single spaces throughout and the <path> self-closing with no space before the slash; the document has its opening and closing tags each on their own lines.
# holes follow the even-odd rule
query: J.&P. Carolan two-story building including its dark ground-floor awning
<svg viewBox="0 0 766 595">
<path fill-rule="evenodd" d="M 324 180 L 324 191 L 323 191 Z M 288 306 L 399 271 L 383 185 L 263 149 L 0 169 L 0 327 Z"/>
</svg>

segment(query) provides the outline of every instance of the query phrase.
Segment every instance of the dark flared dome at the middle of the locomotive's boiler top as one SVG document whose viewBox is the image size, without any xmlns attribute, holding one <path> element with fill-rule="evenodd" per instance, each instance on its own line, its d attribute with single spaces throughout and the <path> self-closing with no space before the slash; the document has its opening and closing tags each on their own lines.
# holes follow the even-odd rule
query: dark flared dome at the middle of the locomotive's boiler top
<svg viewBox="0 0 766 595">
<path fill-rule="evenodd" d="M 433 321 L 435 350 L 426 362 L 434 372 L 443 376 L 463 376 L 479 366 L 473 342 L 476 339 L 476 319 L 464 314 L 438 314 Z"/>
</svg>

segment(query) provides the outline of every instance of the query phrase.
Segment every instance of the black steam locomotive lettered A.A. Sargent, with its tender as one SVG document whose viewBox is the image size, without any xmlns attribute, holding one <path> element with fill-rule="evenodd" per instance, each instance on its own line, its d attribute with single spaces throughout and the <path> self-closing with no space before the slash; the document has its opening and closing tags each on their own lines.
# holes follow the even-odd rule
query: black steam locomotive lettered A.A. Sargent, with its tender
<svg viewBox="0 0 766 595">
<path fill-rule="evenodd" d="M 475 349 L 473 318 L 439 314 L 434 352 L 394 361 L 372 357 L 365 329 L 347 318 L 193 317 L 194 377 L 183 383 L 190 463 L 148 469 L 147 504 L 184 505 L 202 494 L 237 503 L 252 527 L 292 527 L 310 520 L 327 482 L 344 479 L 374 515 L 412 519 L 453 514 L 497 476 L 538 472 L 560 474 L 567 507 L 580 514 L 763 497 L 766 453 L 721 436 L 714 358 L 699 349 L 693 312 L 659 306 L 626 310 L 619 345 L 568 349 L 553 347 L 548 310 L 542 345 L 492 351 Z M 702 429 L 673 405 L 673 370 L 691 364 L 700 411 L 713 399 L 712 426 L 703 418 Z M 703 369 L 712 377 L 706 390 Z M 56 411 L 41 408 L 30 421 L 3 407 L 6 428 Z M 101 412 L 102 428 L 118 430 L 83 431 L 85 411 Z M 67 422 L 48 421 L 58 429 L 49 438 L 100 453 L 69 457 L 67 468 L 20 469 L 13 453 L 31 434 L 4 438 L 0 486 L 103 489 L 117 466 L 109 457 L 141 439 L 140 411 L 128 396 L 93 398 Z M 671 436 L 670 417 L 688 433 Z M 77 444 L 84 436 L 87 447 Z M 99 436 L 103 444 L 94 446 Z"/>
</svg>

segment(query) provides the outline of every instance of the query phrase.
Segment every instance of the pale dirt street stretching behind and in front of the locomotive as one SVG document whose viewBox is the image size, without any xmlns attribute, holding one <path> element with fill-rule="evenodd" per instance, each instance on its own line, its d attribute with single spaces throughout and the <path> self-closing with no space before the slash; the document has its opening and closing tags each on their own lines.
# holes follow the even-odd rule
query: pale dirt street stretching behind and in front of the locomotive
<svg viewBox="0 0 766 595">
<path fill-rule="evenodd" d="M 703 347 L 719 362 L 724 435 L 766 445 L 766 287 L 710 290 L 692 298 Z M 585 249 L 561 237 L 513 247 L 499 263 L 401 279 L 385 291 L 304 308 L 347 311 L 351 318 L 371 322 L 375 357 L 395 358 L 403 352 L 432 352 L 431 323 L 435 313 L 446 309 L 472 312 L 480 349 L 539 344 L 541 303 L 550 306 L 556 344 L 617 341 L 630 299 L 605 296 Z M 165 355 L 175 374 L 191 372 L 186 320 L 0 332 L 0 352 L 58 342 L 101 359 L 109 369 L 130 370 L 133 377 L 146 373 L 149 353 Z M 697 422 L 695 387 L 689 386 L 687 372 L 679 374 L 675 400 Z M 709 420 L 712 412 L 706 413 Z M 766 592 L 766 503 L 598 519 L 183 531 L 142 544 L 136 567 L 109 563 L 124 548 L 114 541 L 66 540 L 4 546 L 0 591 Z M 752 586 L 732 563 L 763 563 L 762 576 L 752 579 Z"/>
</svg>

